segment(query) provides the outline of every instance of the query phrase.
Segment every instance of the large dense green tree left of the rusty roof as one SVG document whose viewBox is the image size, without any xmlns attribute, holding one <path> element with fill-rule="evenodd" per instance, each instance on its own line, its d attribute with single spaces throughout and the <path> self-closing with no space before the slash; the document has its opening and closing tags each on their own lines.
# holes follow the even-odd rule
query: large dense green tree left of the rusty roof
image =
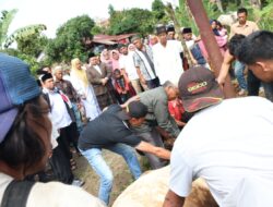
<svg viewBox="0 0 273 207">
<path fill-rule="evenodd" d="M 70 62 L 73 58 L 84 60 L 88 51 L 91 33 L 95 23 L 88 15 L 70 19 L 57 29 L 57 37 L 49 40 L 46 53 L 49 62 Z"/>
</svg>

